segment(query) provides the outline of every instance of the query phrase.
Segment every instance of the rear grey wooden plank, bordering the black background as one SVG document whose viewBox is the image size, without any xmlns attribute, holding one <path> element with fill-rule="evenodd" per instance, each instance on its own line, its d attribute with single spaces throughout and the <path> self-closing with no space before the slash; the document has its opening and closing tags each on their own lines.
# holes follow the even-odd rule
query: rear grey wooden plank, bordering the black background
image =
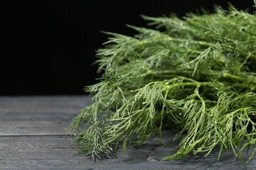
<svg viewBox="0 0 256 170">
<path fill-rule="evenodd" d="M 65 133 L 88 96 L 0 97 L 0 135 Z"/>
</svg>

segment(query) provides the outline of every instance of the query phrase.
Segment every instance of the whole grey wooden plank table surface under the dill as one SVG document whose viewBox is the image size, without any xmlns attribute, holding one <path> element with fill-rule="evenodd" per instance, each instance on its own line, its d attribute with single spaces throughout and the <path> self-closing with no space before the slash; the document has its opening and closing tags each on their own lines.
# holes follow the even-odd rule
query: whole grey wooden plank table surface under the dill
<svg viewBox="0 0 256 170">
<path fill-rule="evenodd" d="M 206 158 L 190 155 L 160 161 L 174 154 L 178 144 L 166 131 L 165 145 L 158 145 L 154 138 L 125 154 L 119 149 L 117 159 L 95 163 L 88 157 L 74 156 L 77 149 L 65 129 L 89 103 L 87 96 L 0 97 L 0 169 L 245 169 L 239 160 L 233 161 L 231 152 L 216 163 L 217 150 Z M 256 159 L 247 169 L 256 169 Z"/>
</svg>

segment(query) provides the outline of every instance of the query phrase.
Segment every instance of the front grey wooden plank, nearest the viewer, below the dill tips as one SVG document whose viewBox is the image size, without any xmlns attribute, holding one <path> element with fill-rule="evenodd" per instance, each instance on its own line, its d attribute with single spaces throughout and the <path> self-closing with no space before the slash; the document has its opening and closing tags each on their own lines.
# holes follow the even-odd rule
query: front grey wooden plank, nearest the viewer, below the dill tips
<svg viewBox="0 0 256 170">
<path fill-rule="evenodd" d="M 189 155 L 173 161 L 160 161 L 174 154 L 177 142 L 164 137 L 166 145 L 157 145 L 156 138 L 140 147 L 131 147 L 122 154 L 117 150 L 117 159 L 93 162 L 82 155 L 74 156 L 70 137 L 0 137 L 0 169 L 245 169 L 239 160 L 233 162 L 233 154 L 227 152 L 216 163 L 218 152 L 209 157 Z M 255 169 L 255 159 L 247 169 Z"/>
</svg>

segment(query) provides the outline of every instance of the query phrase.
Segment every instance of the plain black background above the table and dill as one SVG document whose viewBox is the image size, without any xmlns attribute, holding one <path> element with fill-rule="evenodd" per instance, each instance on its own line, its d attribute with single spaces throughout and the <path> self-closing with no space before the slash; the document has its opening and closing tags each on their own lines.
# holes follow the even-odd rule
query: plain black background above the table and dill
<svg viewBox="0 0 256 170">
<path fill-rule="evenodd" d="M 254 11 L 253 1 L 229 1 Z M 0 95 L 79 95 L 100 74 L 95 50 L 107 36 L 125 35 L 125 26 L 146 26 L 140 17 L 176 13 L 183 16 L 201 7 L 213 11 L 228 1 L 1 1 Z"/>
</svg>

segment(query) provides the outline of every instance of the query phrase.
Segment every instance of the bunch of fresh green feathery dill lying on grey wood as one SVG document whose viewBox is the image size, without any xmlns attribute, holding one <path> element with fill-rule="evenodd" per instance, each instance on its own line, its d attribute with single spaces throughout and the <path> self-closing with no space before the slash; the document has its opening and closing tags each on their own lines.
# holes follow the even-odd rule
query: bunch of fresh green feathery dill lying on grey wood
<svg viewBox="0 0 256 170">
<path fill-rule="evenodd" d="M 122 142 L 140 145 L 169 128 L 189 153 L 242 151 L 256 143 L 256 15 L 216 7 L 184 18 L 148 17 L 134 37 L 110 35 L 97 51 L 100 82 L 87 86 L 93 103 L 73 119 L 79 152 L 103 159 Z M 252 159 L 256 149 L 248 159 Z M 220 158 L 220 154 L 218 159 Z"/>
</svg>

